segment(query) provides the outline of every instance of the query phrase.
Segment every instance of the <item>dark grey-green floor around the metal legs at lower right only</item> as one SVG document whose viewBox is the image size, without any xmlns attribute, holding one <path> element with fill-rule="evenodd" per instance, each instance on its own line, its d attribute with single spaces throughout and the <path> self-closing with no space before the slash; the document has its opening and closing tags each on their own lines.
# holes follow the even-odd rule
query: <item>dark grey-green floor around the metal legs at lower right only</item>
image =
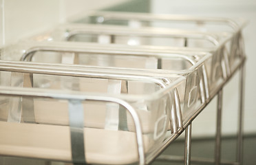
<svg viewBox="0 0 256 165">
<path fill-rule="evenodd" d="M 212 158 L 214 157 L 214 147 L 215 141 L 213 138 L 207 139 L 196 139 L 192 140 L 191 143 L 191 157 L 204 157 Z M 164 151 L 163 154 L 171 155 L 184 155 L 184 140 L 176 140 Z M 235 161 L 236 155 L 236 140 L 235 137 L 222 137 L 222 160 Z M 156 160 L 153 165 L 165 165 L 165 164 L 182 164 L 182 163 L 166 163 Z M 244 165 L 255 165 L 256 164 L 256 135 L 246 135 L 244 136 Z"/>
</svg>

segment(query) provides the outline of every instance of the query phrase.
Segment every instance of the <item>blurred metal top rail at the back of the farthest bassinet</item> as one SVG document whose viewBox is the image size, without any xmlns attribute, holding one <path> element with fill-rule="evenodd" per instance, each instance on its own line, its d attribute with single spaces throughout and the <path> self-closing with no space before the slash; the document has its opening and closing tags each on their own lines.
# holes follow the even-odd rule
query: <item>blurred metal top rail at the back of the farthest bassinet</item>
<svg viewBox="0 0 256 165">
<path fill-rule="evenodd" d="M 86 17 L 85 17 L 86 16 Z M 79 22 L 90 17 L 96 17 L 96 23 L 104 23 L 109 20 L 133 20 L 133 21 L 166 21 L 174 23 L 190 22 L 190 23 L 223 23 L 231 27 L 233 30 L 237 28 L 243 28 L 246 25 L 246 21 L 240 20 L 239 23 L 233 19 L 222 19 L 213 17 L 193 17 L 187 15 L 178 14 L 152 14 L 152 13 L 140 13 L 140 12 L 111 12 L 111 11 L 94 11 L 91 13 L 81 14 L 78 17 L 73 17 L 70 22 Z"/>
</svg>

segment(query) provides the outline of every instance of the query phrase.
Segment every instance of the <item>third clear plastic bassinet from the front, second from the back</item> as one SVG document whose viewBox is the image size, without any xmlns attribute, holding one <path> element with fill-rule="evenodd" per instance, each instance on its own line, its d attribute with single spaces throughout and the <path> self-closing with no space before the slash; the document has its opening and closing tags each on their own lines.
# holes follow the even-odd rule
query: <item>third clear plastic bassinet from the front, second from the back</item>
<svg viewBox="0 0 256 165">
<path fill-rule="evenodd" d="M 171 50 L 168 46 L 187 51 L 211 52 L 215 67 L 222 68 L 222 76 L 228 78 L 244 60 L 241 39 L 234 39 L 232 32 L 195 32 L 166 28 L 125 28 L 113 25 L 67 24 L 56 30 L 32 37 L 34 41 L 78 41 L 114 44 L 116 48 L 130 45 L 130 50 L 144 46 L 149 50 Z M 147 46 L 152 45 L 152 46 Z M 127 46 L 125 46 L 127 48 Z M 189 48 L 186 48 L 189 47 Z M 237 47 L 240 47 L 237 50 Z M 193 48 L 193 49 L 192 49 Z M 234 52 L 235 50 L 235 52 Z M 219 62 L 220 61 L 220 62 Z M 217 72 L 215 72 L 217 73 Z M 215 74 L 221 75 L 221 72 Z M 216 77 L 211 77 L 215 79 Z M 214 81 L 214 80 L 213 80 Z M 210 85 L 212 86 L 212 85 Z M 213 91 L 213 90 L 212 90 Z"/>
</svg>

